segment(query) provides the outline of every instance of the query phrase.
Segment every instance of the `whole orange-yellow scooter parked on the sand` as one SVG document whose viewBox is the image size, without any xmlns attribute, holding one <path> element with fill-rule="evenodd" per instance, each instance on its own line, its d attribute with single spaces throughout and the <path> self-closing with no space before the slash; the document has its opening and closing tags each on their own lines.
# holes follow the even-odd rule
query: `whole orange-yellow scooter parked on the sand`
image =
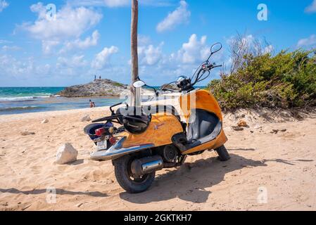
<svg viewBox="0 0 316 225">
<path fill-rule="evenodd" d="M 128 193 L 146 191 L 156 171 L 182 165 L 187 155 L 215 150 L 220 160 L 229 160 L 220 105 L 209 91 L 194 89 L 195 84 L 208 78 L 210 70 L 221 66 L 209 61 L 220 49 L 222 44 L 214 44 L 208 60 L 191 79 L 180 77 L 175 82 L 179 88 L 180 114 L 174 106 L 165 104 L 125 104 L 115 112 L 113 108 L 118 104 L 110 107 L 110 117 L 94 120 L 94 124 L 84 128 L 98 149 L 91 160 L 112 160 L 115 177 Z M 146 84 L 139 80 L 133 85 L 141 88 Z M 170 91 L 174 90 L 155 89 L 156 96 Z M 103 121 L 106 123 L 96 123 Z M 114 123 L 122 127 L 116 128 Z"/>
</svg>

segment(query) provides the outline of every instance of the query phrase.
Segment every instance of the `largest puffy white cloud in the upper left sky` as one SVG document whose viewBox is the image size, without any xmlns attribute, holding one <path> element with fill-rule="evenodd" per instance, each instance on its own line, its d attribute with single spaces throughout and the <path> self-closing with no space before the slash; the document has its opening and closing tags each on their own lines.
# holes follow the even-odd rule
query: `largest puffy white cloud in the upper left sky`
<svg viewBox="0 0 316 225">
<path fill-rule="evenodd" d="M 46 7 L 42 3 L 32 5 L 31 11 L 37 13 L 38 18 L 32 24 L 23 24 L 23 29 L 37 39 L 49 41 L 79 38 L 102 18 L 100 13 L 91 8 L 71 8 L 68 5 L 56 13 L 56 20 L 46 18 Z"/>
</svg>

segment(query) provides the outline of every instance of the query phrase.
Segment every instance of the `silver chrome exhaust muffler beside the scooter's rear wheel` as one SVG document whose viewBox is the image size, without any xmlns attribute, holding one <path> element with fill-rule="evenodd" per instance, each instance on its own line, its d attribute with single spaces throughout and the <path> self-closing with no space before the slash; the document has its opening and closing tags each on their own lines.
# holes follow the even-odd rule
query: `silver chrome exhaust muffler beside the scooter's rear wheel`
<svg viewBox="0 0 316 225">
<path fill-rule="evenodd" d="M 143 176 L 151 172 L 163 169 L 163 158 L 160 155 L 154 155 L 147 158 L 141 158 L 132 162 L 132 173 L 136 176 Z"/>
</svg>

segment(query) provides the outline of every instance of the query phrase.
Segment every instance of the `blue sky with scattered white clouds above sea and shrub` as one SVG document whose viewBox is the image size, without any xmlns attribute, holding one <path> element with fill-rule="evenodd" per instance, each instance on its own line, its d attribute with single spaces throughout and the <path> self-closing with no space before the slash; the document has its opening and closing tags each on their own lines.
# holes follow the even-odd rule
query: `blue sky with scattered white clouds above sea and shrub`
<svg viewBox="0 0 316 225">
<path fill-rule="evenodd" d="M 130 0 L 0 0 L 0 86 L 68 86 L 94 75 L 128 84 L 130 11 Z M 156 86 L 189 76 L 217 41 L 224 48 L 213 60 L 229 65 L 236 32 L 267 39 L 274 52 L 315 48 L 316 0 L 139 0 L 140 77 Z"/>
</svg>

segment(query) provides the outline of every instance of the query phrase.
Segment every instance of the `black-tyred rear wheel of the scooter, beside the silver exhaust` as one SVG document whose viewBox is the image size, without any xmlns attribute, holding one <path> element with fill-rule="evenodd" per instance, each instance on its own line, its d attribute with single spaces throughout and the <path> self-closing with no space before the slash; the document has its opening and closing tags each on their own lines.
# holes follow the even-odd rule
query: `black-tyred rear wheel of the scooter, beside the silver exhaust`
<svg viewBox="0 0 316 225">
<path fill-rule="evenodd" d="M 137 178 L 133 177 L 131 170 L 133 160 L 134 157 L 131 155 L 125 155 L 122 158 L 114 160 L 115 177 L 118 184 L 128 193 L 141 193 L 153 184 L 156 172 L 151 172 Z"/>
</svg>

